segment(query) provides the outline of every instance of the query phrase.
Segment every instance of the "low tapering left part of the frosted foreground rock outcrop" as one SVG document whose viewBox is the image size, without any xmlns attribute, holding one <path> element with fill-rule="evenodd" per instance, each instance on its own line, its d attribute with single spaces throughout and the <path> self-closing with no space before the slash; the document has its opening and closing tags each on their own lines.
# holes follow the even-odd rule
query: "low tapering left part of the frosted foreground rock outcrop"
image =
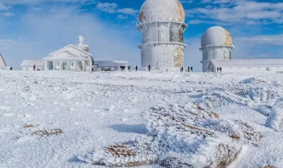
<svg viewBox="0 0 283 168">
<path fill-rule="evenodd" d="M 160 151 L 156 141 L 148 136 L 136 141 L 117 143 L 102 150 L 94 150 L 78 159 L 107 167 L 137 167 L 154 164 Z"/>
</svg>

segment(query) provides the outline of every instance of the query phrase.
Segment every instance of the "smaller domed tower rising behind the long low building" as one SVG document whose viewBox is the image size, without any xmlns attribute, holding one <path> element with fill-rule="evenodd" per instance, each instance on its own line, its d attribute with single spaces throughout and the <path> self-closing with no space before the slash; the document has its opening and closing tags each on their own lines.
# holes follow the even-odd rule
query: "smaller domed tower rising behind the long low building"
<svg viewBox="0 0 283 168">
<path fill-rule="evenodd" d="M 210 72 L 209 60 L 230 60 L 232 58 L 231 34 L 223 27 L 214 26 L 208 28 L 201 37 L 201 50 L 203 55 L 203 72 Z"/>
</svg>

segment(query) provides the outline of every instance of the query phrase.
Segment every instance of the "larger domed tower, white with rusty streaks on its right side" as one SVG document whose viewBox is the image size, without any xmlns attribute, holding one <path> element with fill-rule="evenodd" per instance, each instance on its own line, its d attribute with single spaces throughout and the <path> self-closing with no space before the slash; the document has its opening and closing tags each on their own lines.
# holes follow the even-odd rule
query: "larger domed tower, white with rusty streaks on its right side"
<svg viewBox="0 0 283 168">
<path fill-rule="evenodd" d="M 184 8 L 178 0 L 146 0 L 139 12 L 142 67 L 180 70 L 184 66 Z"/>
</svg>

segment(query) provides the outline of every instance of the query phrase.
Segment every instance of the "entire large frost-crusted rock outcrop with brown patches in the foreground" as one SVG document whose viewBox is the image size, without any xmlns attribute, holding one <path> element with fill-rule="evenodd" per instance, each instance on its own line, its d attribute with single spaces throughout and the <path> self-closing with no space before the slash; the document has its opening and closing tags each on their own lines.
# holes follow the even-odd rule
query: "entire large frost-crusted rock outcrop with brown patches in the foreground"
<svg viewBox="0 0 283 168">
<path fill-rule="evenodd" d="M 146 137 L 94 150 L 78 158 L 108 167 L 227 167 L 242 144 L 256 145 L 261 133 L 242 122 L 225 121 L 204 105 L 163 105 L 142 115 Z"/>
</svg>

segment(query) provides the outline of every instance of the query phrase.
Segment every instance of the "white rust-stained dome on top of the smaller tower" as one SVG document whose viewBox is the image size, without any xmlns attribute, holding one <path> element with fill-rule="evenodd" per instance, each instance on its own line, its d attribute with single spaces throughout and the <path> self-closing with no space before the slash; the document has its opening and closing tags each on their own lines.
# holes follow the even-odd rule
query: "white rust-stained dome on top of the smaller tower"
<svg viewBox="0 0 283 168">
<path fill-rule="evenodd" d="M 210 27 L 201 37 L 201 47 L 206 46 L 233 46 L 231 34 L 223 27 Z"/>
</svg>

